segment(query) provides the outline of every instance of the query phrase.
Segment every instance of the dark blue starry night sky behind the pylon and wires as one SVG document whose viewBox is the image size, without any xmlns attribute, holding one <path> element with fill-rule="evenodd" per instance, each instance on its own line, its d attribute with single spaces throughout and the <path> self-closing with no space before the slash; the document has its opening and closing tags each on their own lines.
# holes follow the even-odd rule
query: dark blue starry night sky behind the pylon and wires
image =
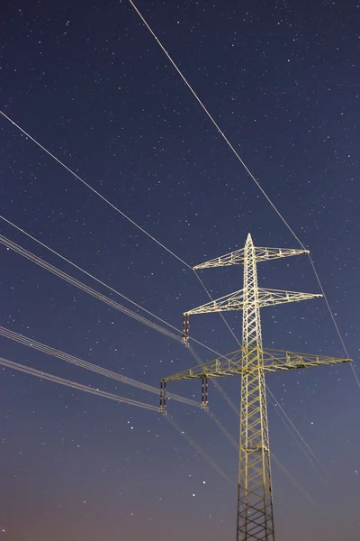
<svg viewBox="0 0 360 541">
<path fill-rule="evenodd" d="M 311 250 L 349 355 L 360 350 L 356 0 L 138 0 L 137 6 L 260 184 Z M 123 0 L 4 3 L 1 108 L 189 265 L 241 248 L 299 248 L 157 42 Z M 357 20 L 356 20 L 357 18 Z M 171 325 L 209 298 L 151 241 L 1 118 L 1 215 Z M 104 295 L 1 221 L 1 234 Z M 183 345 L 1 250 L 1 325 L 138 381 L 193 366 Z M 213 298 L 240 267 L 202 271 Z M 319 293 L 307 256 L 262 263 L 259 285 Z M 229 325 L 241 336 L 241 314 Z M 323 299 L 262 311 L 264 345 L 345 356 Z M 238 344 L 219 315 L 191 334 Z M 213 355 L 194 346 L 202 361 Z M 1 338 L 1 356 L 157 405 L 157 396 Z M 359 373 L 358 369 L 357 373 Z M 222 380 L 238 405 L 240 381 Z M 358 541 L 360 390 L 349 365 L 267 377 L 277 541 Z M 168 385 L 201 399 L 200 381 Z M 211 387 L 210 408 L 238 439 Z M 230 484 L 157 411 L 0 371 L 0 539 L 234 539 L 238 456 L 200 408 L 167 409 Z M 315 461 L 311 451 L 319 458 Z M 311 458 L 307 459 L 307 456 Z"/>
</svg>

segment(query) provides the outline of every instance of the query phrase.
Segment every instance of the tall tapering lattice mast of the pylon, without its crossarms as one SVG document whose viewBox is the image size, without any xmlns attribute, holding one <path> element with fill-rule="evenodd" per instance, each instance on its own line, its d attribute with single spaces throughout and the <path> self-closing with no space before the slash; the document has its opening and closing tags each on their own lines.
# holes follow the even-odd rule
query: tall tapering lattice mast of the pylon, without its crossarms
<svg viewBox="0 0 360 541">
<path fill-rule="evenodd" d="M 237 539 L 274 539 L 273 498 L 257 255 L 251 235 L 244 249 Z"/>
</svg>

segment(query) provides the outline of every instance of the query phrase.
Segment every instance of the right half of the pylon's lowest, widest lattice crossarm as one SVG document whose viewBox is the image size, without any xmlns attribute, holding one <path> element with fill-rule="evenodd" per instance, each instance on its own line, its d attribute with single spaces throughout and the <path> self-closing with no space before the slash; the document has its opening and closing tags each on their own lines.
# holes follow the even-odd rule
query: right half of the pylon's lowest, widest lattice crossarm
<svg viewBox="0 0 360 541">
<path fill-rule="evenodd" d="M 352 362 L 352 359 L 342 359 L 338 357 L 328 357 L 326 355 L 317 355 L 312 353 L 294 353 L 283 350 L 263 349 L 264 371 L 286 371 L 312 366 L 324 366 L 328 364 L 340 364 L 342 362 Z"/>
</svg>

